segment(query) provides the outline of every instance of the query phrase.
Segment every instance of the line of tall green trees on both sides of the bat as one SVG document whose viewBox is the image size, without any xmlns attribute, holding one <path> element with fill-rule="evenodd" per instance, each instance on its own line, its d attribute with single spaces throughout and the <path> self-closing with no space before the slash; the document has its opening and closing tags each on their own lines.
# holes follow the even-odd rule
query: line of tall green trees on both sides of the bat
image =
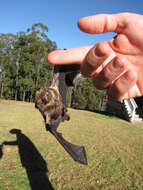
<svg viewBox="0 0 143 190">
<path fill-rule="evenodd" d="M 35 92 L 51 83 L 53 66 L 45 55 L 56 48 L 43 23 L 33 24 L 25 32 L 0 34 L 0 98 L 33 102 Z M 68 90 L 68 106 L 102 109 L 104 94 L 89 79 L 77 81 Z"/>
</svg>

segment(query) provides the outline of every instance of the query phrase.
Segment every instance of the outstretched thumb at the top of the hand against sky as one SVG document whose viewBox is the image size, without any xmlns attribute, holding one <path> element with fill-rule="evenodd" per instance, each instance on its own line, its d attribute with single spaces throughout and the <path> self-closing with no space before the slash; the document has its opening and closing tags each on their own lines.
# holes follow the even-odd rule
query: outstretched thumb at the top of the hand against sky
<svg viewBox="0 0 143 190">
<path fill-rule="evenodd" d="M 81 18 L 78 22 L 79 28 L 90 34 L 105 32 L 121 32 L 126 24 L 128 13 L 121 14 L 99 14 Z"/>
</svg>

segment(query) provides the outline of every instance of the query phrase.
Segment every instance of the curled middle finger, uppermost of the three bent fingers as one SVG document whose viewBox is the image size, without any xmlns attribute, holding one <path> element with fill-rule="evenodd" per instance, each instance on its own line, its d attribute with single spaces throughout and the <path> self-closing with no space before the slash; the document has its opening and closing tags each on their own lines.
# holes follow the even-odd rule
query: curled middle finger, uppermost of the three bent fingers
<svg viewBox="0 0 143 190">
<path fill-rule="evenodd" d="M 85 76 L 98 74 L 115 56 L 107 42 L 100 42 L 91 48 L 81 64 L 81 72 Z"/>
</svg>

